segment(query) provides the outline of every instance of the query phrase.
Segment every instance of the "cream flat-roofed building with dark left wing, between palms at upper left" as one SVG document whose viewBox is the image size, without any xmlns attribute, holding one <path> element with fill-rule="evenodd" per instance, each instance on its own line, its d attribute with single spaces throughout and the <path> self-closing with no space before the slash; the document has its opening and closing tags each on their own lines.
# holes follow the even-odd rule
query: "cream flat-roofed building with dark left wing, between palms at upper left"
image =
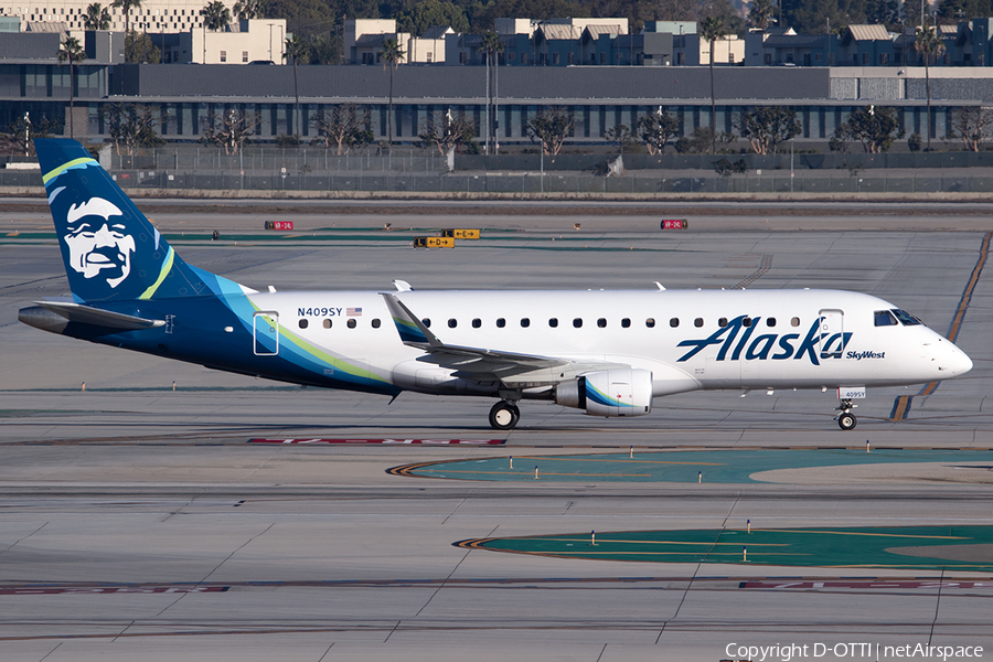
<svg viewBox="0 0 993 662">
<path fill-rule="evenodd" d="M 192 29 L 179 34 L 152 35 L 162 50 L 162 63 L 248 64 L 284 63 L 286 19 L 235 21 L 224 32 Z"/>
</svg>

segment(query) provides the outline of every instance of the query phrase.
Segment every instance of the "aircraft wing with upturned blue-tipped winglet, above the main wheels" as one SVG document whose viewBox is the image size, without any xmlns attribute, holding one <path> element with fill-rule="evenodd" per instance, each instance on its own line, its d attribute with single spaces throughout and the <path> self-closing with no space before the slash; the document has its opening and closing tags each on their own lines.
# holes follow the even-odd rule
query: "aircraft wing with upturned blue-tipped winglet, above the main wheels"
<svg viewBox="0 0 993 662">
<path fill-rule="evenodd" d="M 499 380 L 508 386 L 530 387 L 555 384 L 592 370 L 629 367 L 446 344 L 395 295 L 382 292 L 382 296 L 404 344 L 424 350 L 427 354 L 420 361 L 457 371 L 455 377 Z"/>
</svg>

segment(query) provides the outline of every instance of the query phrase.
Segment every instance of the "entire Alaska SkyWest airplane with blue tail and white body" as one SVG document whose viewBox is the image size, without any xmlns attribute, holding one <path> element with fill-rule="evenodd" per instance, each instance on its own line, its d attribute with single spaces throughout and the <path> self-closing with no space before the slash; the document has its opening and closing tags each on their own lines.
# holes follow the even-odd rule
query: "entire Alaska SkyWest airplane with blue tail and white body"
<svg viewBox="0 0 993 662">
<path fill-rule="evenodd" d="M 693 391 L 837 392 L 961 376 L 972 361 L 897 306 L 840 290 L 257 291 L 186 264 L 82 145 L 35 140 L 72 298 L 20 321 L 306 386 L 498 398 L 643 416 Z"/>
</svg>

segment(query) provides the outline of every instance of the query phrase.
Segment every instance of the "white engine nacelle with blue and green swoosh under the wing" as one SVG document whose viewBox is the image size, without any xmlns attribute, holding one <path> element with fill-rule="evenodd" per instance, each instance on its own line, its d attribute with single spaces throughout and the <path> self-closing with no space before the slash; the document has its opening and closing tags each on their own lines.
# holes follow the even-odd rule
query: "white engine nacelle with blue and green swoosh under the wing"
<svg viewBox="0 0 993 662">
<path fill-rule="evenodd" d="M 619 367 L 555 385 L 555 402 L 590 416 L 644 416 L 652 410 L 652 373 Z"/>
</svg>

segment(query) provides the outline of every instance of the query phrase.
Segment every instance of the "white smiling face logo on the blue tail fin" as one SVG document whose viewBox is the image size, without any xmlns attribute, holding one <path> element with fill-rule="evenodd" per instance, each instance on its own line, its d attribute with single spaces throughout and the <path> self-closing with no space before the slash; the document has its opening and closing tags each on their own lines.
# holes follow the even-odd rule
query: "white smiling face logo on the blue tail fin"
<svg viewBox="0 0 993 662">
<path fill-rule="evenodd" d="M 120 221 L 113 217 L 119 216 Z M 100 277 L 116 288 L 131 273 L 135 238 L 127 233 L 124 214 L 103 197 L 72 205 L 66 214 L 70 266 L 84 278 Z"/>
</svg>

